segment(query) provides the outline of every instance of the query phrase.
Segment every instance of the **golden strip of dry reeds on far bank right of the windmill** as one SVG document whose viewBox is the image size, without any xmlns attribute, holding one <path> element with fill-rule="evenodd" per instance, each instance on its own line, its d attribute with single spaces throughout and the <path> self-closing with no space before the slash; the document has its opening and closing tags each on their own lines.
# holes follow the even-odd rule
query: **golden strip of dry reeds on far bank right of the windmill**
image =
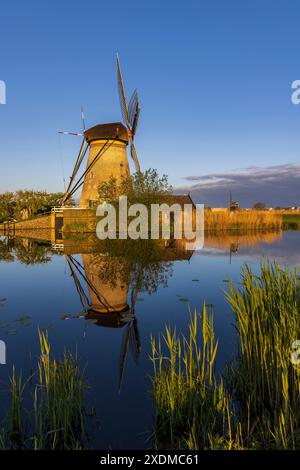
<svg viewBox="0 0 300 470">
<path fill-rule="evenodd" d="M 282 215 L 259 210 L 205 210 L 205 230 L 279 230 Z"/>
</svg>

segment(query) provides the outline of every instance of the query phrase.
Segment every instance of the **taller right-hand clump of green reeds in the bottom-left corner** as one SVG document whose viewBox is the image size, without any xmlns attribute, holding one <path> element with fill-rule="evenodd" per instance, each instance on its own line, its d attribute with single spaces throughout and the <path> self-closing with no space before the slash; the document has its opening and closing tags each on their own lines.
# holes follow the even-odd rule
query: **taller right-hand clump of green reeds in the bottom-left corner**
<svg viewBox="0 0 300 470">
<path fill-rule="evenodd" d="M 46 333 L 39 333 L 39 382 L 34 392 L 35 448 L 73 449 L 84 443 L 84 380 L 77 358 L 51 359 Z"/>
</svg>

